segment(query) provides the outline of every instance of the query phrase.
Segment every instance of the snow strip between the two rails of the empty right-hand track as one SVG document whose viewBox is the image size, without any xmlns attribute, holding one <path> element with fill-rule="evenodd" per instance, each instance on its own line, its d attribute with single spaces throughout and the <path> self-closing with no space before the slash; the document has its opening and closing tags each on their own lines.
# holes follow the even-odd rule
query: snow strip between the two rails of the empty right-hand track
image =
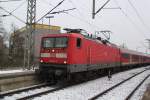
<svg viewBox="0 0 150 100">
<path fill-rule="evenodd" d="M 138 84 L 150 73 L 150 71 L 146 71 L 133 79 L 123 83 L 121 86 L 113 89 L 106 95 L 98 98 L 98 100 L 108 100 L 111 98 L 111 100 L 125 100 L 125 98 L 136 88 Z M 150 82 L 150 81 L 149 81 Z M 134 99 L 140 100 L 139 97 L 135 97 Z"/>
</svg>

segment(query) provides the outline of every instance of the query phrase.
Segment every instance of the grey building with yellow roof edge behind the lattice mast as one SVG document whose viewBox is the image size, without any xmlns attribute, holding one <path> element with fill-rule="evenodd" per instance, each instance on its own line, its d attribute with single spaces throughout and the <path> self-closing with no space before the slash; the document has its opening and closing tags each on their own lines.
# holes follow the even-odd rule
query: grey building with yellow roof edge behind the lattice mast
<svg viewBox="0 0 150 100">
<path fill-rule="evenodd" d="M 46 36 L 48 34 L 56 34 L 60 33 L 60 26 L 50 26 L 45 24 L 36 24 L 34 31 L 34 58 L 35 61 L 38 61 L 40 45 L 41 45 L 41 37 Z M 10 49 L 9 55 L 13 58 L 14 62 L 20 62 L 23 64 L 24 57 L 24 46 L 25 46 L 25 34 L 27 30 L 26 27 L 23 27 L 19 30 L 16 30 L 10 36 Z"/>
</svg>

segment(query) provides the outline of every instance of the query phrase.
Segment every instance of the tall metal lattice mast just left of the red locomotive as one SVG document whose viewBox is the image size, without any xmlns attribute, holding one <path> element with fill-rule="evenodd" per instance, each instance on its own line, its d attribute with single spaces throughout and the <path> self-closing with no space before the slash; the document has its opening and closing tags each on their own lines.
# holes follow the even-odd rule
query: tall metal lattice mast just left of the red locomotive
<svg viewBox="0 0 150 100">
<path fill-rule="evenodd" d="M 36 0 L 28 0 L 24 47 L 24 68 L 31 69 L 34 62 L 34 31 L 36 22 Z"/>
</svg>

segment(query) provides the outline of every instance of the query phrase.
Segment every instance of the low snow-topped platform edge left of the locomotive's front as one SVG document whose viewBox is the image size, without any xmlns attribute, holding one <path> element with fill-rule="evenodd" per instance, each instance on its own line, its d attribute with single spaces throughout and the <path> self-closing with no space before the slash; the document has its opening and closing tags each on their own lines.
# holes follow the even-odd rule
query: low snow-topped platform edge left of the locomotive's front
<svg viewBox="0 0 150 100">
<path fill-rule="evenodd" d="M 38 78 L 34 70 L 18 69 L 0 71 L 0 91 L 8 91 L 38 83 Z"/>
</svg>

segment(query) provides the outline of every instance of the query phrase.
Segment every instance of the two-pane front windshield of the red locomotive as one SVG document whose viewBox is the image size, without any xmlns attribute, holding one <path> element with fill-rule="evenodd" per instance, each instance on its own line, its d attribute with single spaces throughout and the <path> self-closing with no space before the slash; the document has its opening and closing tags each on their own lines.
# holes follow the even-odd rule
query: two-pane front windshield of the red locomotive
<svg viewBox="0 0 150 100">
<path fill-rule="evenodd" d="M 46 37 L 42 40 L 43 48 L 64 48 L 67 47 L 67 37 Z"/>
</svg>

